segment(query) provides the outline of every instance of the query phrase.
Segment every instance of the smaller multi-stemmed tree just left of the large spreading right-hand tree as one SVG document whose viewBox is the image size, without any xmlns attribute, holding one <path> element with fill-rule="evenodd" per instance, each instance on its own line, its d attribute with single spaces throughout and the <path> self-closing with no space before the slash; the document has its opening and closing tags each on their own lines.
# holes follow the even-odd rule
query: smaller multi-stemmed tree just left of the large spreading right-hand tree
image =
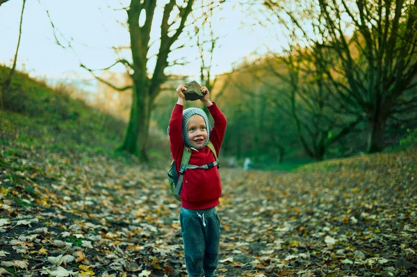
<svg viewBox="0 0 417 277">
<path fill-rule="evenodd" d="M 298 47 L 277 57 L 275 60 L 286 65 L 286 74 L 268 60 L 268 71 L 288 84 L 288 90 L 281 90 L 287 103 L 277 103 L 277 106 L 293 116 L 304 150 L 315 160 L 322 160 L 329 146 L 354 131 L 361 122 L 358 115 L 335 116 L 339 113 L 338 102 L 332 98 L 322 68 L 322 64 L 332 64 L 332 57 L 320 51 Z"/>
</svg>

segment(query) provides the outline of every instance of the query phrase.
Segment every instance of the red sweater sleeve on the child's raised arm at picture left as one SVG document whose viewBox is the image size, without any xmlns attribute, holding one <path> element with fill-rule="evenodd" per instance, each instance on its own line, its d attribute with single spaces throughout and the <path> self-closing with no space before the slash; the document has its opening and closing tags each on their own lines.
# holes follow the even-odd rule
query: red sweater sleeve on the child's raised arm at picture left
<svg viewBox="0 0 417 277">
<path fill-rule="evenodd" d="M 170 128 L 168 135 L 170 137 L 170 151 L 171 157 L 174 160 L 180 160 L 184 149 L 183 137 L 182 137 L 182 119 L 183 119 L 184 106 L 175 104 L 172 110 L 170 119 Z"/>
</svg>

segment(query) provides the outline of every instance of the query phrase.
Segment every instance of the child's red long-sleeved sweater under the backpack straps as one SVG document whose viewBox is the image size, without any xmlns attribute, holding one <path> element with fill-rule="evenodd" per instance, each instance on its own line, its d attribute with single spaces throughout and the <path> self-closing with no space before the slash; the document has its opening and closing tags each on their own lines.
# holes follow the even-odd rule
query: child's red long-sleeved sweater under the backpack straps
<svg viewBox="0 0 417 277">
<path fill-rule="evenodd" d="M 182 119 L 184 106 L 175 104 L 170 119 L 170 149 L 171 157 L 175 160 L 175 169 L 179 174 L 179 166 L 184 149 L 182 137 Z M 208 111 L 214 119 L 214 127 L 210 132 L 209 140 L 213 143 L 214 149 L 219 156 L 220 146 L 222 145 L 224 131 L 226 131 L 227 120 L 218 106 L 213 103 L 208 107 Z M 207 146 L 198 151 L 192 150 L 190 165 L 206 165 L 214 162 L 213 153 Z M 204 210 L 213 208 L 220 203 L 219 198 L 222 194 L 222 184 L 217 167 L 211 169 L 187 169 L 183 176 L 181 191 L 181 206 L 186 209 Z"/>
</svg>

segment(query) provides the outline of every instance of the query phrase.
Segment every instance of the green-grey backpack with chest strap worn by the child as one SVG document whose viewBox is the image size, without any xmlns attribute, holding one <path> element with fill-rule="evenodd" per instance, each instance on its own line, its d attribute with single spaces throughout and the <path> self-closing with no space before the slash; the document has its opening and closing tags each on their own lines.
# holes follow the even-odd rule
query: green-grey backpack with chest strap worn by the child
<svg viewBox="0 0 417 277">
<path fill-rule="evenodd" d="M 211 150 L 211 152 L 213 152 L 215 158 L 214 162 L 210 162 L 207 165 L 188 165 L 188 162 L 190 162 L 191 151 L 188 149 L 188 147 L 185 146 L 183 150 L 183 156 L 181 158 L 181 166 L 179 167 L 179 176 L 177 174 L 177 170 L 175 169 L 175 161 L 172 160 L 171 165 L 167 171 L 168 183 L 170 183 L 172 196 L 174 196 L 174 198 L 178 201 L 181 201 L 181 197 L 179 195 L 181 194 L 182 190 L 183 176 L 186 173 L 187 169 L 211 169 L 215 166 L 219 167 L 218 157 L 217 153 L 215 153 L 213 143 L 211 143 L 211 141 L 208 140 L 206 146 Z"/>
</svg>

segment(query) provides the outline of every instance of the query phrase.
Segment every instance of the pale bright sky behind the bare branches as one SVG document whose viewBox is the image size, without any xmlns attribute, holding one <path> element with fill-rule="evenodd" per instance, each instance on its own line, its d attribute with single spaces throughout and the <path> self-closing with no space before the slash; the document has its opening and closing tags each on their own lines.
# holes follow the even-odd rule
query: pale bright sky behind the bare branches
<svg viewBox="0 0 417 277">
<path fill-rule="evenodd" d="M 125 5 L 129 3 L 125 2 Z M 213 56 L 212 76 L 230 72 L 245 56 L 265 53 L 268 50 L 265 45 L 270 47 L 277 43 L 270 42 L 268 31 L 256 24 L 260 15 L 248 16 L 243 8 L 236 8 L 236 3 L 237 0 L 227 1 L 214 21 L 215 33 L 221 39 Z M 81 62 L 91 69 L 108 67 L 117 58 L 111 47 L 129 45 L 129 33 L 119 23 L 126 22 L 126 11 L 122 7 L 120 1 L 115 0 L 27 0 L 17 69 L 41 78 L 91 78 L 89 72 L 79 67 Z M 56 44 L 47 10 L 58 31 L 58 39 L 64 45 L 71 41 L 73 50 Z M 3 65 L 12 65 L 21 11 L 22 0 L 10 0 L 0 6 L 0 63 Z M 154 17 L 157 18 L 158 15 Z M 152 32 L 153 40 L 157 40 L 157 31 L 155 28 Z M 154 44 L 150 52 L 156 51 L 157 45 Z M 129 51 L 124 53 L 130 60 Z M 197 54 L 197 49 L 173 52 L 174 58 L 190 57 L 190 63 L 168 71 L 198 76 Z M 152 67 L 152 60 L 149 67 Z M 122 72 L 124 67 L 114 67 L 113 71 Z"/>
</svg>

